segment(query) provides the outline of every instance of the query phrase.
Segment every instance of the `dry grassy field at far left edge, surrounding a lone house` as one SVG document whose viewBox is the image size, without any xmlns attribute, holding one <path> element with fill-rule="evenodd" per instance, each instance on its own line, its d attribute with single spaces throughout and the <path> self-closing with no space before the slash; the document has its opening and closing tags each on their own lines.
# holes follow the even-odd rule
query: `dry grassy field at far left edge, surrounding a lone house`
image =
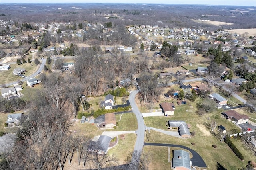
<svg viewBox="0 0 256 170">
<path fill-rule="evenodd" d="M 27 72 L 24 73 L 25 76 L 30 76 L 32 73 L 34 73 L 40 65 L 32 63 L 25 63 L 21 65 L 17 64 L 11 64 L 9 70 L 5 70 L 0 72 L 0 84 L 8 83 L 8 82 L 13 82 L 16 81 L 17 79 L 22 79 L 22 77 L 14 75 L 12 72 L 14 68 L 25 68 Z"/>
</svg>

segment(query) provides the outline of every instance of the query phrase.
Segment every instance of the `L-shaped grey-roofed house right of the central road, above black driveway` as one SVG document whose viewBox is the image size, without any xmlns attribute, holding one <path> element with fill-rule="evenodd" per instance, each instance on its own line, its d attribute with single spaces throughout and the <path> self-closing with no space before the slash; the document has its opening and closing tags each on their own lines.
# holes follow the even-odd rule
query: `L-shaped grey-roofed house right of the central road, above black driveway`
<svg viewBox="0 0 256 170">
<path fill-rule="evenodd" d="M 170 129 L 178 129 L 178 132 L 183 138 L 191 138 L 189 127 L 185 121 L 169 120 L 168 126 Z"/>
</svg>

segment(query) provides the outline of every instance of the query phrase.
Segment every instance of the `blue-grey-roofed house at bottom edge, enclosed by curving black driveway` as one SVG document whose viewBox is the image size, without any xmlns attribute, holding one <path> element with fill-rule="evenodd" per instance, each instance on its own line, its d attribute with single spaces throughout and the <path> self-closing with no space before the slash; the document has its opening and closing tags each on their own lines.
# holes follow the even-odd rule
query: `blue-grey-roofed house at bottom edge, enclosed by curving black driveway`
<svg viewBox="0 0 256 170">
<path fill-rule="evenodd" d="M 173 150 L 172 169 L 191 170 L 189 153 L 184 150 Z"/>
</svg>

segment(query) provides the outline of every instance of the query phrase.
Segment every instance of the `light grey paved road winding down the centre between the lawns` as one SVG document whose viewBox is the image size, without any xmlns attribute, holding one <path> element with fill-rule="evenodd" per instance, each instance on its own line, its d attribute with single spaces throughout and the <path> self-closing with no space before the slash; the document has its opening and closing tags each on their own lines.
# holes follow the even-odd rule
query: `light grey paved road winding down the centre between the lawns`
<svg viewBox="0 0 256 170">
<path fill-rule="evenodd" d="M 145 137 L 145 130 L 146 130 L 142 114 L 140 113 L 135 102 L 135 97 L 136 97 L 136 94 L 138 94 L 138 92 L 139 90 L 134 90 L 130 93 L 130 96 L 129 96 L 129 102 L 130 102 L 130 105 L 132 106 L 132 112 L 136 115 L 136 118 L 138 121 L 138 129 L 135 131 L 135 133 L 137 134 L 137 139 L 136 139 L 134 150 L 133 150 L 132 162 L 136 162 L 134 159 L 134 156 L 138 155 L 136 153 L 139 153 L 138 156 L 140 156 L 140 152 L 142 151 L 142 148 L 144 145 L 144 137 Z"/>
</svg>

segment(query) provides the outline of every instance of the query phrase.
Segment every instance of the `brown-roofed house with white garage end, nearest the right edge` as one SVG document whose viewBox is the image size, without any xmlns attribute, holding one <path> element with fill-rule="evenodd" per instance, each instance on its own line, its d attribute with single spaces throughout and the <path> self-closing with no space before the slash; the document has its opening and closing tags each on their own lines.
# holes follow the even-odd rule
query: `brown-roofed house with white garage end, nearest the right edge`
<svg viewBox="0 0 256 170">
<path fill-rule="evenodd" d="M 221 114 L 224 115 L 226 119 L 236 122 L 236 124 L 247 123 L 249 121 L 249 117 L 247 115 L 240 115 L 234 110 L 228 110 Z"/>
</svg>

